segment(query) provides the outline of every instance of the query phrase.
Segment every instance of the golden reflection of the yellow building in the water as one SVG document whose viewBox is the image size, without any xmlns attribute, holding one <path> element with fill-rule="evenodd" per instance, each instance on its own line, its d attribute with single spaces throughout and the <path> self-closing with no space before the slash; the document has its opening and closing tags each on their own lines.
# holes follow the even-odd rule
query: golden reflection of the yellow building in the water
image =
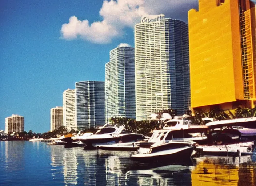
<svg viewBox="0 0 256 186">
<path fill-rule="evenodd" d="M 202 157 L 191 172 L 192 185 L 256 185 L 256 164 L 251 156 Z"/>
</svg>

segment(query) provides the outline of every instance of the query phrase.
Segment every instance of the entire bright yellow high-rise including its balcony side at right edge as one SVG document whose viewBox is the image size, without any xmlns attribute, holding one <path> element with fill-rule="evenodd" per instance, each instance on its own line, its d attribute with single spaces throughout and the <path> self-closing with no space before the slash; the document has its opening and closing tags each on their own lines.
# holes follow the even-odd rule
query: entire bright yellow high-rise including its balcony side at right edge
<svg viewBox="0 0 256 186">
<path fill-rule="evenodd" d="M 199 0 L 188 11 L 193 110 L 255 107 L 255 14 L 249 0 Z"/>
</svg>

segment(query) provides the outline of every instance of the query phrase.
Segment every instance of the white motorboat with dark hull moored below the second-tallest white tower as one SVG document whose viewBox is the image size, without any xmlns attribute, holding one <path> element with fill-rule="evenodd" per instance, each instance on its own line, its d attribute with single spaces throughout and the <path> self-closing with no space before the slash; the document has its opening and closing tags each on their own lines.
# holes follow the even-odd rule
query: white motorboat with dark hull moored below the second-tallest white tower
<svg viewBox="0 0 256 186">
<path fill-rule="evenodd" d="M 99 148 L 99 146 L 103 147 L 102 145 L 117 143 L 119 144 L 119 147 L 123 147 L 125 143 L 130 143 L 132 145 L 133 142 L 144 140 L 146 138 L 142 134 L 124 133 L 124 131 L 124 126 L 104 126 L 97 130 L 95 134 L 79 138 L 79 140 L 86 145 L 86 148 Z"/>
</svg>

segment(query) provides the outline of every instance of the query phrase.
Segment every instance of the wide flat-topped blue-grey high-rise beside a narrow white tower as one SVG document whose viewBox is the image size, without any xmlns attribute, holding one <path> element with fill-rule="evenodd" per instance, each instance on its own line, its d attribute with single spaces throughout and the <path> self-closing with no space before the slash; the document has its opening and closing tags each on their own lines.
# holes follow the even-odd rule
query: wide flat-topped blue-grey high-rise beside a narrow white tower
<svg viewBox="0 0 256 186">
<path fill-rule="evenodd" d="M 105 124 L 105 82 L 76 82 L 75 123 L 77 130 Z"/>
</svg>

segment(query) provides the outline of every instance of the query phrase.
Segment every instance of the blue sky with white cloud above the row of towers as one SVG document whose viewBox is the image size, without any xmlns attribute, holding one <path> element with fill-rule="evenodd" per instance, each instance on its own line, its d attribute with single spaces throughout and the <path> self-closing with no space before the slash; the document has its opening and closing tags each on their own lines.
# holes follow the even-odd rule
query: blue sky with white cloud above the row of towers
<svg viewBox="0 0 256 186">
<path fill-rule="evenodd" d="M 50 130 L 50 109 L 78 81 L 105 81 L 109 51 L 134 46 L 145 14 L 187 21 L 197 0 L 1 0 L 0 130 L 19 114 L 25 130 Z"/>
</svg>

